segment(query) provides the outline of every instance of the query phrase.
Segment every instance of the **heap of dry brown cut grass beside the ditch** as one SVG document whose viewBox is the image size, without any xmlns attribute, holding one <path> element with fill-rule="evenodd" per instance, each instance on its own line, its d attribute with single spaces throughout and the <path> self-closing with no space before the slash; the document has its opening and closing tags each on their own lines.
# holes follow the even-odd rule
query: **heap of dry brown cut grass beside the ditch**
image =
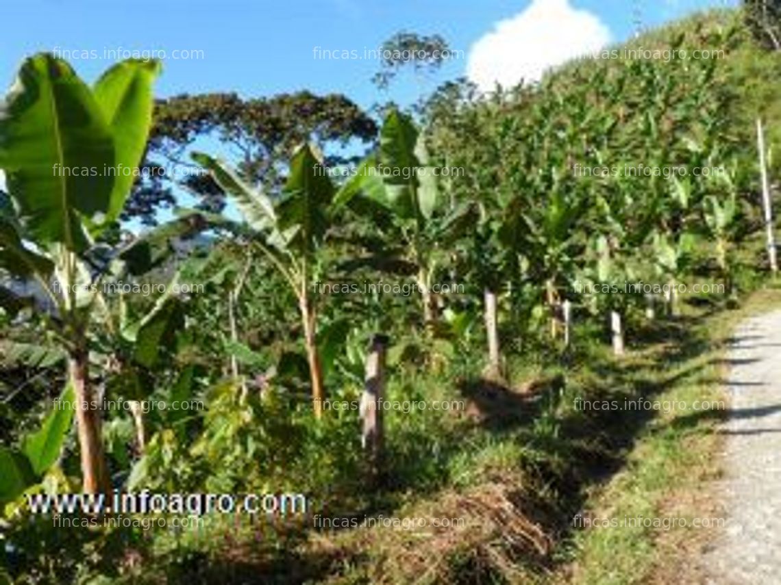
<svg viewBox="0 0 781 585">
<path fill-rule="evenodd" d="M 384 524 L 373 516 L 370 527 L 321 533 L 312 544 L 357 569 L 349 578 L 371 583 L 517 583 L 549 565 L 554 542 L 539 516 L 519 477 L 501 477 L 401 509 Z"/>
</svg>

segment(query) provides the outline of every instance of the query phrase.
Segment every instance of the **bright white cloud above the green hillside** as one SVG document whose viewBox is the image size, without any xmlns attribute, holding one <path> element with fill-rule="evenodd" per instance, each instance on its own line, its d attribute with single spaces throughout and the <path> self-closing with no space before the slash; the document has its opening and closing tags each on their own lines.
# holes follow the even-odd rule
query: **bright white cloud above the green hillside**
<svg viewBox="0 0 781 585">
<path fill-rule="evenodd" d="M 533 0 L 523 12 L 499 21 L 469 50 L 466 75 L 481 90 L 537 81 L 552 66 L 604 48 L 610 30 L 569 0 Z"/>
</svg>

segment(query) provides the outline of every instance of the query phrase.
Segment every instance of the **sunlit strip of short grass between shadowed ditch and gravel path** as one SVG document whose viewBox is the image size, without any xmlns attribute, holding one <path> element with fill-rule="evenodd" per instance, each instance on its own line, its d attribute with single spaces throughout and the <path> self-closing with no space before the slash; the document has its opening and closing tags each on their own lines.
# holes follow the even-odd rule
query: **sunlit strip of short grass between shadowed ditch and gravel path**
<svg viewBox="0 0 781 585">
<path fill-rule="evenodd" d="M 689 342 L 666 359 L 659 355 L 656 373 L 663 390 L 654 399 L 689 405 L 697 400 L 724 402 L 729 408 L 722 382 L 732 331 L 745 318 L 779 305 L 781 290 L 764 289 L 748 297 L 739 310 L 684 317 Z M 647 352 L 660 350 L 668 351 L 662 346 Z M 622 470 L 608 482 L 595 484 L 584 502 L 583 517 L 617 525 L 592 522 L 592 527 L 576 530 L 564 546 L 569 562 L 548 582 L 702 582 L 697 553 L 723 527 L 723 512 L 709 497 L 707 486 L 720 473 L 722 438 L 715 427 L 724 417 L 726 410 L 720 408 L 655 413 L 627 453 Z M 674 518 L 686 519 L 687 526 L 670 527 Z M 625 519 L 634 519 L 634 526 L 626 526 Z M 704 526 L 693 527 L 695 520 Z M 658 526 L 641 525 L 654 522 Z M 588 526 L 586 521 L 576 523 Z"/>
</svg>

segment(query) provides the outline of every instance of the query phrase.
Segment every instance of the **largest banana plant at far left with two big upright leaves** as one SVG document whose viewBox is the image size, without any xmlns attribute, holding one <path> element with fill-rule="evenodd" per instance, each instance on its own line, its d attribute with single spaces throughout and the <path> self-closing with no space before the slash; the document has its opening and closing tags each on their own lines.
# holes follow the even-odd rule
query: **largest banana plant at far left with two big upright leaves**
<svg viewBox="0 0 781 585">
<path fill-rule="evenodd" d="M 152 123 L 159 62 L 128 60 L 88 87 L 62 59 L 28 58 L 0 105 L 0 268 L 34 280 L 54 308 L 47 323 L 67 355 L 79 405 L 95 400 L 91 326 L 102 320 L 102 274 L 91 257 L 119 218 Z M 116 172 L 107 172 L 115 169 Z M 76 410 L 84 492 L 109 488 L 100 411 Z"/>
</svg>

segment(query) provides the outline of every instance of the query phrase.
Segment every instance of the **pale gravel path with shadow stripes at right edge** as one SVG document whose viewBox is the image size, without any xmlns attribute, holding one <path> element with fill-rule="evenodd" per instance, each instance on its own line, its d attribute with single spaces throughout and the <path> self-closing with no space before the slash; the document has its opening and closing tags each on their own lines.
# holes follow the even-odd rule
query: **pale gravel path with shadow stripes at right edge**
<svg viewBox="0 0 781 585">
<path fill-rule="evenodd" d="M 726 530 L 705 555 L 708 583 L 781 583 L 781 311 L 744 322 L 729 352 Z"/>
</svg>

